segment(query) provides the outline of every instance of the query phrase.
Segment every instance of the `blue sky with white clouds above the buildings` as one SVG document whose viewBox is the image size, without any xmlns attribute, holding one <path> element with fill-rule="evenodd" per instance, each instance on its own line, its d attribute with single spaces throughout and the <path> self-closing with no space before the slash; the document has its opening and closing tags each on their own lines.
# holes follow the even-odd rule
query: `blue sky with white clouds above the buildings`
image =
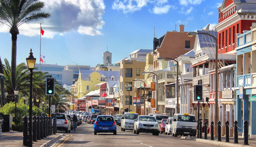
<svg viewBox="0 0 256 147">
<path fill-rule="evenodd" d="M 153 49 L 155 37 L 167 31 L 196 31 L 218 23 L 222 0 L 41 0 L 51 17 L 21 25 L 17 39 L 17 64 L 26 62 L 30 48 L 37 63 L 102 64 L 102 53 L 112 53 L 112 63 L 138 49 Z M 0 56 L 11 62 L 11 35 L 0 26 Z"/>
</svg>

